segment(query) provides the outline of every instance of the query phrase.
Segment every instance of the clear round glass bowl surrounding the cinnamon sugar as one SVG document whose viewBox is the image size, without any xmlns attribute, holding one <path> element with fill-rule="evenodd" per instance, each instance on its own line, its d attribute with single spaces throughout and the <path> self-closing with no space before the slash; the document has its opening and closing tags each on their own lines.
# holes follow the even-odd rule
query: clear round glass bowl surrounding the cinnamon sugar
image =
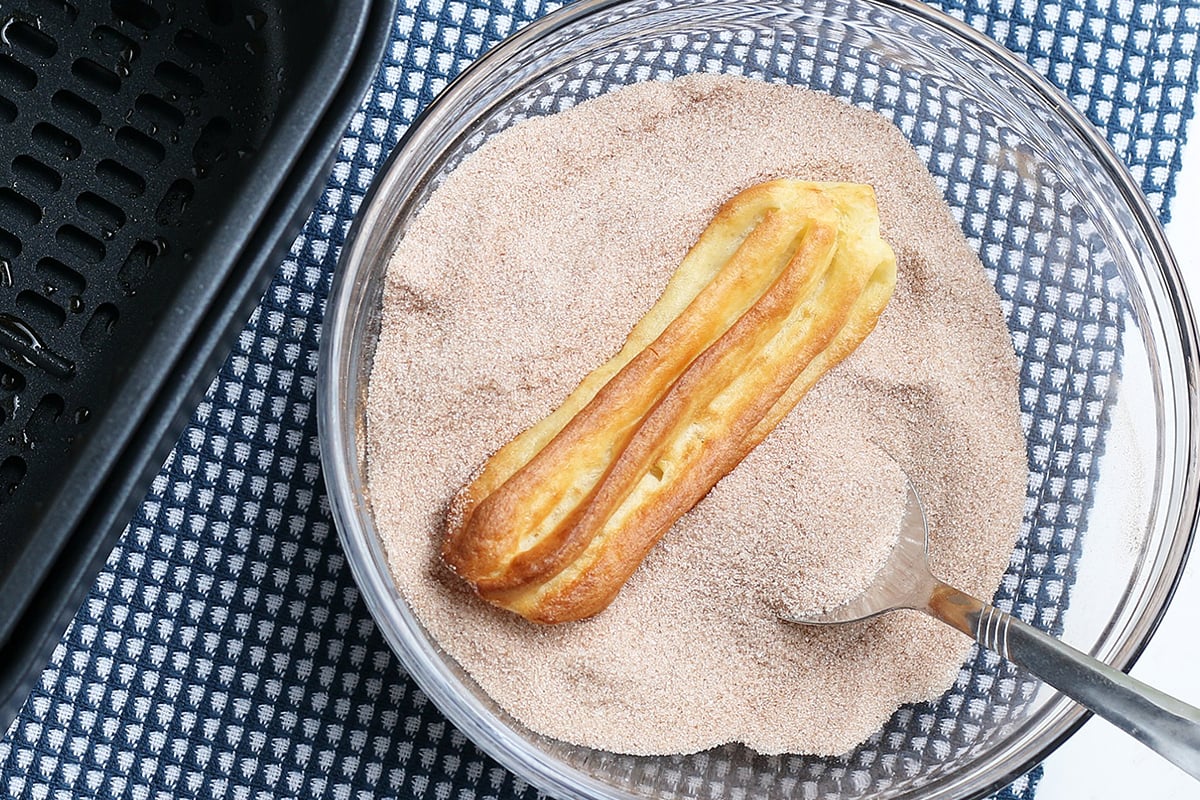
<svg viewBox="0 0 1200 800">
<path fill-rule="evenodd" d="M 995 602 L 1118 668 L 1145 646 L 1195 523 L 1196 331 L 1178 270 L 1124 167 L 1056 90 L 907 0 L 582 0 L 456 79 L 377 178 L 326 308 L 322 461 L 347 558 L 418 685 L 484 751 L 553 795 L 982 796 L 1085 718 L 992 654 L 974 652 L 941 700 L 900 709 L 840 758 L 733 745 L 628 757 L 516 723 L 438 649 L 392 583 L 362 437 L 384 269 L 408 222 L 498 131 L 690 72 L 818 89 L 908 138 L 995 283 L 1021 360 L 1028 494 Z"/>
</svg>

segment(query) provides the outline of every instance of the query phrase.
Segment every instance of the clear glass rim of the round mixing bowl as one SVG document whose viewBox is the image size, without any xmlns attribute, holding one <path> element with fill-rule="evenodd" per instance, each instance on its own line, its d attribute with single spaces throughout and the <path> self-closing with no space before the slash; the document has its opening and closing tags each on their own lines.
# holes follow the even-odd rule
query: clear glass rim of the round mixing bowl
<svg viewBox="0 0 1200 800">
<path fill-rule="evenodd" d="M 478 723 L 473 711 L 464 704 L 463 698 L 444 691 L 443 687 L 426 680 L 420 670 L 412 669 L 409 658 L 414 657 L 398 640 L 397 632 L 388 624 L 385 604 L 395 603 L 406 625 L 421 630 L 420 622 L 413 615 L 408 604 L 403 602 L 388 569 L 386 555 L 378 537 L 374 535 L 373 525 L 350 525 L 343 521 L 352 519 L 356 515 L 355 505 L 366 501 L 366 487 L 358 481 L 355 464 L 348 458 L 354 447 L 343 437 L 342 426 L 337 423 L 337 409 L 344 402 L 347 393 L 358 391 L 353 385 L 343 386 L 337 371 L 336 356 L 343 350 L 344 338 L 349 335 L 350 321 L 347 312 L 353 308 L 350 302 L 355 291 L 361 291 L 359 279 L 359 267 L 366 265 L 367 259 L 362 258 L 362 247 L 367 241 L 367 233 L 377 225 L 386 225 L 388 219 L 378 212 L 376 199 L 385 193 L 389 185 L 389 175 L 403 172 L 408 167 L 414 142 L 426 136 L 430 128 L 436 128 L 448 118 L 455 115 L 455 109 L 463 101 L 468 100 L 480 82 L 491 74 L 493 64 L 504 64 L 510 54 L 518 53 L 532 44 L 536 44 L 544 37 L 569 28 L 588 17 L 600 14 L 605 11 L 625 5 L 634 5 L 641 0 L 576 0 L 562 6 L 548 14 L 530 22 L 524 28 L 506 36 L 494 47 L 482 53 L 469 64 L 457 77 L 446 84 L 438 95 L 426 106 L 413 120 L 395 149 L 389 154 L 376 172 L 367 192 L 359 206 L 346 241 L 342 246 L 334 283 L 329 293 L 325 306 L 325 320 L 322 325 L 318 355 L 318 384 L 317 384 L 317 423 L 318 440 L 320 444 L 320 462 L 325 474 L 326 492 L 330 501 L 330 510 L 338 537 L 347 554 L 358 551 L 360 557 L 348 558 L 350 571 L 360 594 L 371 612 L 372 618 L 380 628 L 384 638 L 394 654 L 400 658 L 420 688 L 433 699 L 438 709 L 457 727 L 464 735 L 475 742 L 484 752 L 496 759 L 502 766 L 514 772 L 530 784 L 547 792 L 553 796 L 578 798 L 581 800 L 592 796 L 612 796 L 614 792 L 625 794 L 616 787 L 596 781 L 590 775 L 575 768 L 557 763 L 547 763 L 532 758 L 526 753 L 516 752 L 502 741 L 492 730 Z M 682 0 L 689 2 L 690 0 Z M 1168 312 L 1168 318 L 1174 320 L 1180 329 L 1181 348 L 1180 363 L 1182 366 L 1182 379 L 1180 384 L 1186 392 L 1187 414 L 1180 415 L 1181 434 L 1178 435 L 1176 452 L 1182 456 L 1180 469 L 1183 470 L 1183 481 L 1180 487 L 1181 503 L 1172 506 L 1171 517 L 1178 519 L 1177 530 L 1168 541 L 1166 553 L 1162 559 L 1164 565 L 1163 575 L 1154 583 L 1147 597 L 1145 597 L 1145 610 L 1136 618 L 1130 627 L 1129 636 L 1112 654 L 1109 663 L 1117 669 L 1128 672 L 1138 661 L 1152 638 L 1154 631 L 1162 622 L 1170 601 L 1178 587 L 1187 560 L 1196 535 L 1198 524 L 1198 499 L 1200 499 L 1200 453 L 1198 453 L 1196 432 L 1200 431 L 1200 401 L 1198 401 L 1198 368 L 1200 368 L 1200 339 L 1198 339 L 1196 319 L 1189 302 L 1182 272 L 1178 263 L 1166 241 L 1165 233 L 1158 215 L 1150 207 L 1148 200 L 1141 188 L 1133 179 L 1126 163 L 1116 155 L 1109 142 L 1100 131 L 1066 97 L 1066 95 L 1049 80 L 1038 73 L 1025 59 L 1016 55 L 1004 46 L 1000 44 L 988 35 L 971 28 L 965 22 L 934 8 L 920 0 L 863 0 L 875 4 L 902 16 L 917 18 L 919 22 L 941 29 L 952 37 L 962 40 L 985 55 L 996 61 L 1001 67 L 1008 70 L 1014 77 L 1024 79 L 1026 89 L 1040 97 L 1046 108 L 1055 112 L 1058 120 L 1063 122 L 1084 144 L 1087 145 L 1090 155 L 1096 157 L 1098 164 L 1104 169 L 1108 178 L 1118 190 L 1122 199 L 1128 204 L 1129 211 L 1140 225 L 1141 233 L 1146 237 L 1146 245 L 1153 255 L 1154 264 L 1160 270 L 1160 278 L 1165 285 L 1163 296 L 1157 301 L 1165 301 L 1163 307 Z M 702 5 L 697 2 L 697 5 Z M 1174 343 L 1172 343 L 1174 344 Z M 349 351 L 353 354 L 350 362 L 359 362 L 361 343 L 350 341 Z M 366 512 L 370 517 L 370 512 Z M 1181 535 L 1182 534 L 1182 535 Z M 368 564 L 370 561 L 370 564 Z M 1165 567 L 1176 564 L 1174 575 L 1166 575 Z M 395 602 L 400 601 L 400 602 Z M 420 643 L 424 657 L 434 655 L 432 648 Z M 430 684 L 430 685 L 426 685 Z M 955 794 L 966 800 L 974 800 L 986 796 L 995 790 L 1009 784 L 1016 777 L 1024 775 L 1033 766 L 1044 760 L 1050 753 L 1058 748 L 1063 741 L 1073 735 L 1087 718 L 1091 711 L 1068 700 L 1058 694 L 1055 700 L 1048 704 L 1064 706 L 1061 716 L 1050 726 L 1043 744 L 1039 746 L 1026 745 L 1024 754 L 1015 758 L 1010 766 L 996 770 L 992 778 L 974 787 L 958 787 L 967 794 Z M 947 784 L 943 789 L 953 789 L 954 783 Z M 581 790 L 582 789 L 582 790 Z M 592 789 L 592 792 L 587 792 Z M 634 795 L 629 795 L 634 796 Z M 949 796 L 949 795 L 948 795 Z"/>
</svg>

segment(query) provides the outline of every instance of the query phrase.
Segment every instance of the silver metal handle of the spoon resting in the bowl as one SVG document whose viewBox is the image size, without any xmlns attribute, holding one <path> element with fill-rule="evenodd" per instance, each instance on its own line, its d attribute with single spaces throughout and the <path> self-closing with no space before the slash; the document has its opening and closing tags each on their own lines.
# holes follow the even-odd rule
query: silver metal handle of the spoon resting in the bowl
<svg viewBox="0 0 1200 800">
<path fill-rule="evenodd" d="M 925 613 L 1024 667 L 1200 780 L 1200 709 L 938 582 Z"/>
</svg>

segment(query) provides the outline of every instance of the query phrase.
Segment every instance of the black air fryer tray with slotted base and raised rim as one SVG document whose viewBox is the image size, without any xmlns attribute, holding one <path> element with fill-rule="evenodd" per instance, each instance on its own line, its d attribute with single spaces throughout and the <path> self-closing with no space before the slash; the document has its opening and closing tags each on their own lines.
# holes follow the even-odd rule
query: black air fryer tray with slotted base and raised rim
<svg viewBox="0 0 1200 800">
<path fill-rule="evenodd" d="M 282 259 L 395 0 L 0 0 L 0 730 Z"/>
</svg>

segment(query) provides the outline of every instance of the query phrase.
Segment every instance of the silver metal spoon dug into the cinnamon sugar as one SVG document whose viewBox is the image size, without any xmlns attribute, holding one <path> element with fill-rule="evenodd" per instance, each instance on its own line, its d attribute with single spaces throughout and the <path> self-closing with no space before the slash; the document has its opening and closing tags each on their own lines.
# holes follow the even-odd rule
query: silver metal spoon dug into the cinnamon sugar
<svg viewBox="0 0 1200 800">
<path fill-rule="evenodd" d="M 1200 709 L 1159 692 L 1031 625 L 959 591 L 930 572 L 929 529 L 908 476 L 900 537 L 863 594 L 811 615 L 785 613 L 803 625 L 836 625 L 896 608 L 925 612 L 1024 667 L 1200 780 Z"/>
</svg>

